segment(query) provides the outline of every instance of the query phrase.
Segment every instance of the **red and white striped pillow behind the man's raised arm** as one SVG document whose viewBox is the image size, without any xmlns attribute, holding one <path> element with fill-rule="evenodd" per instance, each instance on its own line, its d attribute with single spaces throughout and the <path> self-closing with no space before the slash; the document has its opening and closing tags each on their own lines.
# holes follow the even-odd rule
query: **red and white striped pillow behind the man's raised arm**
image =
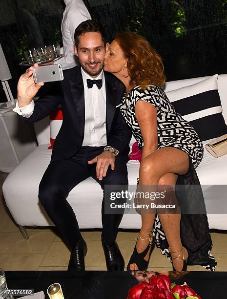
<svg viewBox="0 0 227 299">
<path fill-rule="evenodd" d="M 58 132 L 62 126 L 62 108 L 58 107 L 57 110 L 50 113 L 50 144 L 51 146 L 48 149 L 53 149 L 55 138 L 58 135 Z"/>
</svg>

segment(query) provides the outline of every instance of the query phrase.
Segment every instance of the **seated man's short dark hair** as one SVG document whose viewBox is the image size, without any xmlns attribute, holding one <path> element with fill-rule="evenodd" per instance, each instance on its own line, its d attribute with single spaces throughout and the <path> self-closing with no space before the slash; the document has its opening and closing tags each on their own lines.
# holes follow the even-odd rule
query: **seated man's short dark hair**
<svg viewBox="0 0 227 299">
<path fill-rule="evenodd" d="M 80 25 L 75 29 L 74 40 L 77 49 L 79 45 L 79 37 L 87 32 L 99 32 L 102 36 L 104 45 L 106 44 L 105 32 L 102 24 L 97 21 L 87 20 L 80 23 Z"/>
</svg>

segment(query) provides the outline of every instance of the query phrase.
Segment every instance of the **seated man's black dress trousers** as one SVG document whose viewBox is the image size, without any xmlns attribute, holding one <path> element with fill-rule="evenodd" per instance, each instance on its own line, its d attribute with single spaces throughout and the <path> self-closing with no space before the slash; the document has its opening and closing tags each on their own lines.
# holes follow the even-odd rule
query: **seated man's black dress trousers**
<svg viewBox="0 0 227 299">
<path fill-rule="evenodd" d="M 87 161 L 103 152 L 102 147 L 82 147 L 75 156 L 51 162 L 46 169 L 39 186 L 39 199 L 50 219 L 62 233 L 66 244 L 73 249 L 80 238 L 80 230 L 75 213 L 67 201 L 68 193 L 80 182 L 93 177 L 104 190 L 104 185 L 128 185 L 128 158 L 116 156 L 115 170 L 108 168 L 106 176 L 100 181 L 96 177 L 96 163 Z M 88 207 L 89 209 L 89 207 Z M 84 217 L 86 214 L 84 213 Z M 105 214 L 104 198 L 102 202 L 102 238 L 111 245 L 116 238 L 118 226 L 123 214 Z"/>
</svg>

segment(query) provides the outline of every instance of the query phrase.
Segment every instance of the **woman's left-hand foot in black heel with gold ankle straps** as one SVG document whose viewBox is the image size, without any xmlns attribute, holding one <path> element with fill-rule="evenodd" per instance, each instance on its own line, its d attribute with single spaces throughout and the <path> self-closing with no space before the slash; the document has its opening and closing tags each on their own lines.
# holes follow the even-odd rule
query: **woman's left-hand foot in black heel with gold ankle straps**
<svg viewBox="0 0 227 299">
<path fill-rule="evenodd" d="M 147 268 L 148 265 L 152 240 L 153 235 L 150 231 L 149 233 L 140 231 L 139 236 L 137 238 L 136 246 L 133 251 L 133 255 L 129 260 L 128 268 L 130 270 L 146 270 L 145 268 Z M 135 262 L 131 263 L 131 261 Z"/>
</svg>

